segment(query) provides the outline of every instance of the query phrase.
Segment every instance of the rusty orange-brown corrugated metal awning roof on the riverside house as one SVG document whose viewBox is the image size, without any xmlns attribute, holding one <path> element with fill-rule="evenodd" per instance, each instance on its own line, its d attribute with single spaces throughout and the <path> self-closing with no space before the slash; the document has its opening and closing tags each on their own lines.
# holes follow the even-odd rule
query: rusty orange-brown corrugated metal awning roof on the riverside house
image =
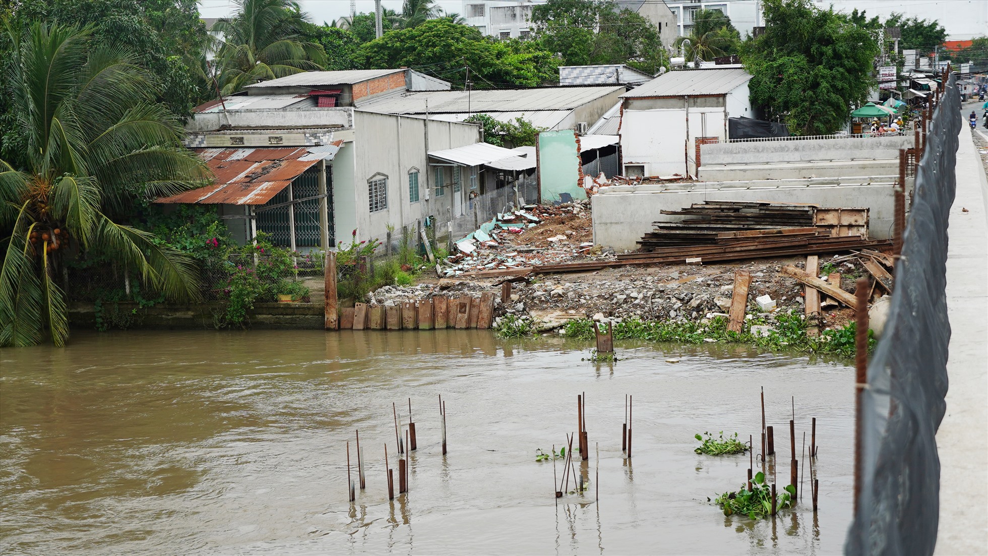
<svg viewBox="0 0 988 556">
<path fill-rule="evenodd" d="M 193 149 L 212 171 L 213 185 L 155 202 L 264 204 L 320 160 L 331 160 L 342 144 L 336 141 L 313 147 Z"/>
</svg>

